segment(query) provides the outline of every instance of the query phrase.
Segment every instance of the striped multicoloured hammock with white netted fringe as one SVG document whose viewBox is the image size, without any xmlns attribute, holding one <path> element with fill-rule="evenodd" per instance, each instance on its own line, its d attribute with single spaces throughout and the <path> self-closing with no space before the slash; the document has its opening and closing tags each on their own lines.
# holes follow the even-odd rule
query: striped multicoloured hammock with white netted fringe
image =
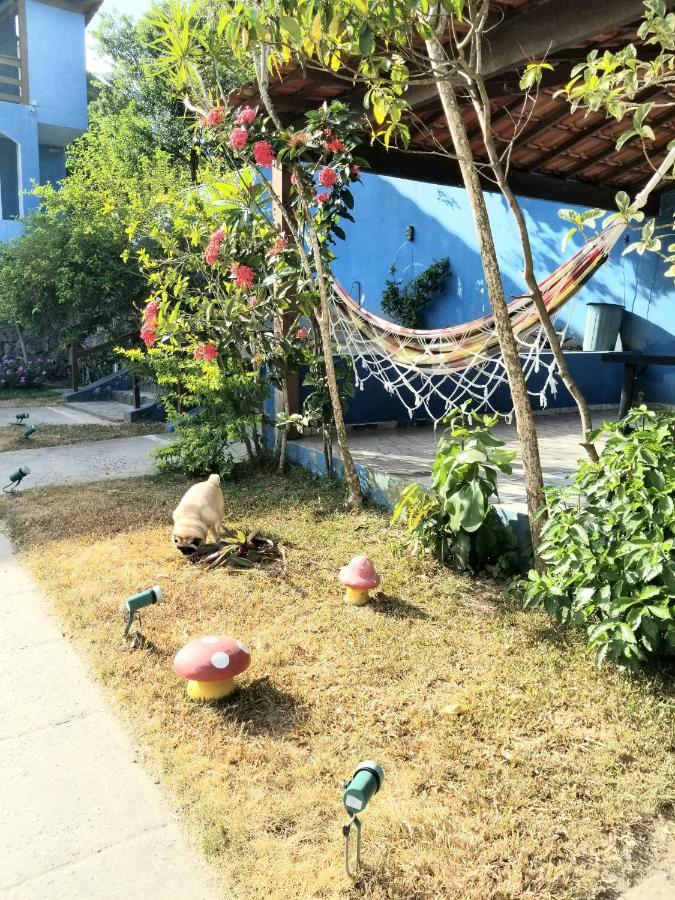
<svg viewBox="0 0 675 900">
<path fill-rule="evenodd" d="M 622 222 L 604 229 L 540 282 L 554 323 L 555 314 L 607 260 L 624 229 Z M 503 393 L 500 410 L 492 402 L 507 383 L 493 315 L 451 328 L 403 328 L 360 307 L 337 282 L 333 287 L 333 339 L 339 353 L 357 362 L 357 387 L 375 378 L 399 397 L 411 417 L 422 408 L 434 422 L 466 398 L 479 409 L 503 411 Z M 545 407 L 548 394 L 556 393 L 556 364 L 552 356 L 542 358 L 547 342 L 539 314 L 530 297 L 516 298 L 508 310 L 526 379 L 544 370 L 537 379 L 543 386 L 530 393 Z M 564 339 L 564 329 L 559 334 Z"/>
</svg>

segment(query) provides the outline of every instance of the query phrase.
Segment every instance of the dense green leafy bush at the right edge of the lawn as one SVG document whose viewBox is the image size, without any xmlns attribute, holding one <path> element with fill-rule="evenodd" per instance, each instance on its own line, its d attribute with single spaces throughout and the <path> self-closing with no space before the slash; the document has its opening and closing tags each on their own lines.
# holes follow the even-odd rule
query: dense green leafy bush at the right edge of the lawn
<svg viewBox="0 0 675 900">
<path fill-rule="evenodd" d="M 675 415 L 640 406 L 590 439 L 601 434 L 600 461 L 549 491 L 548 568 L 529 573 L 525 605 L 586 626 L 599 661 L 637 669 L 675 651 Z"/>
</svg>

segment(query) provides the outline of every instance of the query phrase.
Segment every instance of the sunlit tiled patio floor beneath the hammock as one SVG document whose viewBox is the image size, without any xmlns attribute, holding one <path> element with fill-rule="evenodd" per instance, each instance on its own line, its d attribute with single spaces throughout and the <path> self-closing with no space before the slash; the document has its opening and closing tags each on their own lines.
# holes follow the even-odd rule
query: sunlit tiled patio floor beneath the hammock
<svg viewBox="0 0 675 900">
<path fill-rule="evenodd" d="M 614 418 L 616 410 L 596 411 L 593 424 L 599 426 L 604 420 Z M 575 469 L 577 460 L 585 456 L 579 445 L 579 417 L 576 413 L 537 416 L 537 433 L 544 481 L 546 484 L 562 484 Z M 500 424 L 496 434 L 519 454 L 515 425 Z M 429 425 L 351 430 L 348 439 L 356 462 L 425 484 L 429 483 L 431 462 L 440 436 L 441 429 L 434 431 Z M 303 438 L 300 443 L 321 447 L 318 437 Z M 513 475 L 502 478 L 499 495 L 502 506 L 514 512 L 526 511 L 520 454 L 516 457 Z"/>
</svg>

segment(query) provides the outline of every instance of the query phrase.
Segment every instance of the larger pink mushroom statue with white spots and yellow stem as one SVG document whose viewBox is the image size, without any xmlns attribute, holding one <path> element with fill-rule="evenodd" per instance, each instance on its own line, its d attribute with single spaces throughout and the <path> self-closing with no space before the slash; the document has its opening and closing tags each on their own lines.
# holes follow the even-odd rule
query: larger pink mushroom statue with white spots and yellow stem
<svg viewBox="0 0 675 900">
<path fill-rule="evenodd" d="M 187 681 L 193 700 L 220 700 L 236 688 L 235 676 L 251 665 L 248 649 L 234 638 L 221 635 L 195 638 L 179 650 L 174 671 Z"/>
</svg>

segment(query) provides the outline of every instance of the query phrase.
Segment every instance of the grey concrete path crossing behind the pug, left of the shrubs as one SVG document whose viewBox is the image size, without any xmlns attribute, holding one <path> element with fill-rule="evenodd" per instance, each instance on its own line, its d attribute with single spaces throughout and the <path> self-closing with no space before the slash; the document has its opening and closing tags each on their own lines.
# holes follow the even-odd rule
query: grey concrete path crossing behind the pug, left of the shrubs
<svg viewBox="0 0 675 900">
<path fill-rule="evenodd" d="M 10 472 L 21 465 L 27 465 L 31 470 L 21 490 L 149 475 L 154 465 L 153 450 L 172 439 L 170 434 L 147 434 L 35 450 L 11 450 L 0 453 L 0 479 L 5 479 L 5 484 Z"/>
</svg>

